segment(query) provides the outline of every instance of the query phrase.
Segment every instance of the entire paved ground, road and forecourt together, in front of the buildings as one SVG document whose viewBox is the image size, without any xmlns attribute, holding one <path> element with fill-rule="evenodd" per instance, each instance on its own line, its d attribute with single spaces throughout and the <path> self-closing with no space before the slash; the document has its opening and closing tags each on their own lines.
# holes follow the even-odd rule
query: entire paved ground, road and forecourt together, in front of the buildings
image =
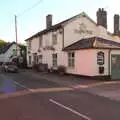
<svg viewBox="0 0 120 120">
<path fill-rule="evenodd" d="M 36 73 L 0 74 L 1 120 L 120 120 L 120 81 Z"/>
</svg>

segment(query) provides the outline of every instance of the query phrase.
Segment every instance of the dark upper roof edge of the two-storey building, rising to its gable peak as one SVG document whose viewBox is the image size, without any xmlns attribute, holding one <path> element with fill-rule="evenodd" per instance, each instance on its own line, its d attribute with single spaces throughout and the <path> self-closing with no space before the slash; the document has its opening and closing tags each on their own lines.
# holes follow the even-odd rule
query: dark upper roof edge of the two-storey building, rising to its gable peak
<svg viewBox="0 0 120 120">
<path fill-rule="evenodd" d="M 36 33 L 35 35 L 31 36 L 30 38 L 26 39 L 25 41 L 28 41 L 28 40 L 32 39 L 33 37 L 37 37 L 38 35 L 45 34 L 45 33 L 49 32 L 49 31 L 59 29 L 59 28 L 62 27 L 62 24 L 66 23 L 66 22 L 68 22 L 68 21 L 70 21 L 70 20 L 72 20 L 72 19 L 74 19 L 74 18 L 76 18 L 76 17 L 78 17 L 78 16 L 84 16 L 84 17 L 86 17 L 86 18 L 89 19 L 92 23 L 94 23 L 94 24 L 96 25 L 96 23 L 95 23 L 85 12 L 82 12 L 82 13 L 80 13 L 80 14 L 78 14 L 78 15 L 75 15 L 75 16 L 67 19 L 67 20 L 64 20 L 64 21 L 62 21 L 62 22 L 60 22 L 60 23 L 58 23 L 58 24 L 55 24 L 55 25 L 51 26 L 51 28 L 49 28 L 49 29 L 44 29 L 44 30 Z"/>
</svg>

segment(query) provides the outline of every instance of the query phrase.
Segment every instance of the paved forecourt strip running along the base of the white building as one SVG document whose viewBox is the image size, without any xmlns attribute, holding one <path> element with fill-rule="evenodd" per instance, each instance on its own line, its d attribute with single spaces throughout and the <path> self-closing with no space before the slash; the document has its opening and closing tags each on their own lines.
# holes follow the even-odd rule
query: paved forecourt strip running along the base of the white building
<svg viewBox="0 0 120 120">
<path fill-rule="evenodd" d="M 31 72 L 31 71 L 29 71 Z M 29 74 L 28 72 L 28 74 Z M 26 73 L 25 73 L 26 74 Z M 89 92 L 94 95 L 103 96 L 111 100 L 120 101 L 120 81 L 100 81 L 72 75 L 58 75 L 48 73 L 33 72 L 35 78 L 42 78 L 52 81 L 61 86 L 66 86 L 74 90 Z"/>
</svg>

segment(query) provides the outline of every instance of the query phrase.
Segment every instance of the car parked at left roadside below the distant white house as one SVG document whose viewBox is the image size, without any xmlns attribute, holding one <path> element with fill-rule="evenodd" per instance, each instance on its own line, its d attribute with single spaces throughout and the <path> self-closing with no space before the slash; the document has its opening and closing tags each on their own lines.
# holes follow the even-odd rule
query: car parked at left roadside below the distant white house
<svg viewBox="0 0 120 120">
<path fill-rule="evenodd" d="M 2 64 L 2 71 L 4 72 L 18 72 L 18 67 L 15 63 L 13 62 L 4 62 Z"/>
</svg>

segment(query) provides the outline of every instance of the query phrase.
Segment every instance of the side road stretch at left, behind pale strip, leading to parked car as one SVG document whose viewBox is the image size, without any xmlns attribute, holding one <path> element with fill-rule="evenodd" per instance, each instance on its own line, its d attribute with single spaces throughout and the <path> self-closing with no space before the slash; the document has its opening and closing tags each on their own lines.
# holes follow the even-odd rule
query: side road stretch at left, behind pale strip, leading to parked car
<svg viewBox="0 0 120 120">
<path fill-rule="evenodd" d="M 4 73 L 0 74 L 0 92 L 11 93 L 21 90 L 37 88 L 56 88 L 60 85 L 41 78 L 36 78 L 28 73 Z"/>
</svg>

